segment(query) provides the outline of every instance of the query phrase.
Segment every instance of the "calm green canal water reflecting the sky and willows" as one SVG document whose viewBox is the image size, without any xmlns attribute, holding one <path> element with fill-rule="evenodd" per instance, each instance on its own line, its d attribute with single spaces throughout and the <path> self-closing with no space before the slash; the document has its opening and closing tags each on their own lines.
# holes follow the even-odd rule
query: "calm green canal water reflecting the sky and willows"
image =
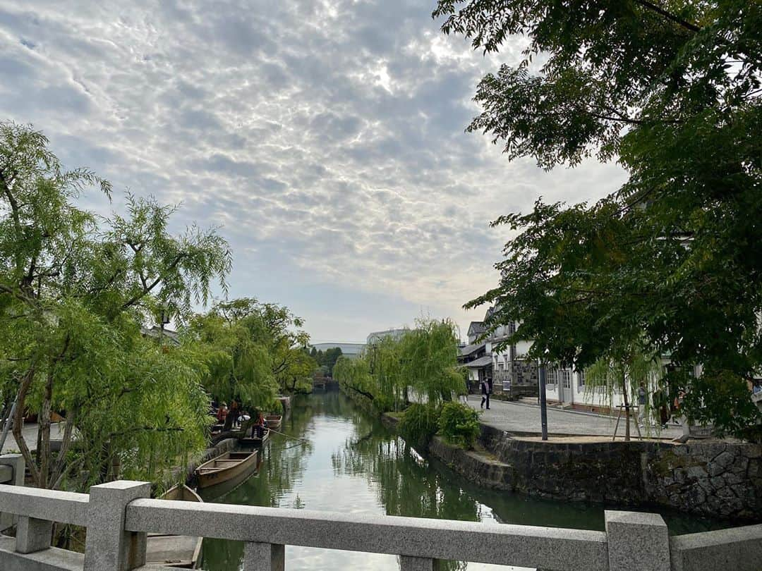
<svg viewBox="0 0 762 571">
<path fill-rule="evenodd" d="M 283 420 L 280 432 L 307 443 L 271 435 L 259 474 L 224 496 L 207 494 L 204 499 L 343 513 L 604 529 L 604 506 L 533 499 L 469 485 L 440 462 L 421 458 L 379 419 L 338 392 L 294 399 L 292 414 Z M 695 516 L 662 515 L 673 534 L 724 527 Z M 204 540 L 203 569 L 240 569 L 242 557 L 241 542 Z M 286 568 L 394 571 L 399 563 L 393 556 L 288 546 Z M 453 562 L 445 569 L 511 567 Z"/>
</svg>

